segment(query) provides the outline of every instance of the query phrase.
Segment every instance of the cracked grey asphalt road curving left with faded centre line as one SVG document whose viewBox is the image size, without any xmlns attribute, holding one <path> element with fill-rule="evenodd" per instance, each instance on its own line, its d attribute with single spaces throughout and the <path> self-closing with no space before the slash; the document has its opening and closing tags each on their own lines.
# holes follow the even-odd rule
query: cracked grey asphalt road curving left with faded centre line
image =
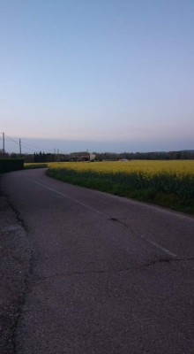
<svg viewBox="0 0 194 354">
<path fill-rule="evenodd" d="M 194 218 L 6 173 L 33 257 L 17 354 L 193 354 Z"/>
</svg>

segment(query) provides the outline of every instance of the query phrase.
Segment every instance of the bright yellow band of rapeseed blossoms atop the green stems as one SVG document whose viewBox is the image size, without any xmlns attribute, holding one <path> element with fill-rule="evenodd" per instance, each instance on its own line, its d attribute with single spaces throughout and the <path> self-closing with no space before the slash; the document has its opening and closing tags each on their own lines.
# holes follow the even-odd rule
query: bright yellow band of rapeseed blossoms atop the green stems
<svg viewBox="0 0 194 354">
<path fill-rule="evenodd" d="M 145 174 L 176 173 L 194 175 L 194 160 L 131 160 L 102 162 L 60 162 L 49 163 L 49 168 L 68 168 L 76 171 L 97 173 L 133 173 Z"/>
</svg>

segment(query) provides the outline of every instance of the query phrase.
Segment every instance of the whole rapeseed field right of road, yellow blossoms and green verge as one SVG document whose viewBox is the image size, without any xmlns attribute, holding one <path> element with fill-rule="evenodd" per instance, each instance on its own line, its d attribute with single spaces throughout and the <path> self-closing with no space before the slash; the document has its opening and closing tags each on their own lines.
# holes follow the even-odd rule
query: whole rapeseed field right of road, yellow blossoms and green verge
<svg viewBox="0 0 194 354">
<path fill-rule="evenodd" d="M 194 214 L 194 160 L 50 163 L 48 176 Z"/>
</svg>

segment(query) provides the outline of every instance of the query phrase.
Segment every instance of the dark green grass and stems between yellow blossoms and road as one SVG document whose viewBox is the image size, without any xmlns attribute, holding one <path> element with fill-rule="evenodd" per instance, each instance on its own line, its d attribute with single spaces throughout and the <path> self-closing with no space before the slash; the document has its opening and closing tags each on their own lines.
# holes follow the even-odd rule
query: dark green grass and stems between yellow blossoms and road
<svg viewBox="0 0 194 354">
<path fill-rule="evenodd" d="M 59 181 L 194 214 L 193 174 L 98 173 L 53 167 L 48 168 L 47 173 Z"/>
</svg>

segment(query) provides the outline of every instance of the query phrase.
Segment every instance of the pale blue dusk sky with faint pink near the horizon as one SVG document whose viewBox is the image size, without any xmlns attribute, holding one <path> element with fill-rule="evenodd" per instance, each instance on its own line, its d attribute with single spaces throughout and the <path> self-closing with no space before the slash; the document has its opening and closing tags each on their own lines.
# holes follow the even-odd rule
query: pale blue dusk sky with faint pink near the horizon
<svg viewBox="0 0 194 354">
<path fill-rule="evenodd" d="M 5 150 L 194 149 L 193 0 L 0 0 L 0 50 Z"/>
</svg>

